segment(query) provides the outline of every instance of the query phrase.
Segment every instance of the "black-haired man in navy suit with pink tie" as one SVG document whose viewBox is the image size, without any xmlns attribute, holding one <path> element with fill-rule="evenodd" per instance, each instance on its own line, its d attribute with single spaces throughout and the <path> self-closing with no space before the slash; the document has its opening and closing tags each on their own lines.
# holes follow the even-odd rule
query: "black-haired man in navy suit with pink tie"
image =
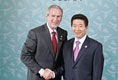
<svg viewBox="0 0 118 80">
<path fill-rule="evenodd" d="M 64 44 L 65 80 L 101 80 L 104 57 L 102 44 L 86 35 L 88 19 L 76 14 L 71 19 L 75 38 Z"/>
</svg>

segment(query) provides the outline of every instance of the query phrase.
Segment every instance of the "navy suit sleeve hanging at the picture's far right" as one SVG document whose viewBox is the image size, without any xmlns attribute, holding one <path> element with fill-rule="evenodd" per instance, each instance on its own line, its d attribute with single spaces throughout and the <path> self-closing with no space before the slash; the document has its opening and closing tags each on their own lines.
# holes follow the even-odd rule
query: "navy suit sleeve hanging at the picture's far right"
<svg viewBox="0 0 118 80">
<path fill-rule="evenodd" d="M 104 65 L 102 45 L 99 44 L 95 50 L 93 59 L 93 80 L 101 80 Z"/>
</svg>

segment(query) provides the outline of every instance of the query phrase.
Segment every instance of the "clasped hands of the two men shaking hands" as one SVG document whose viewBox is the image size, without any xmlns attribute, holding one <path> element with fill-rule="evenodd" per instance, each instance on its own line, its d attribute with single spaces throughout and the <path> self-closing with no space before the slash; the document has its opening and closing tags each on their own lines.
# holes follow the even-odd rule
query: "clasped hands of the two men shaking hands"
<svg viewBox="0 0 118 80">
<path fill-rule="evenodd" d="M 41 77 L 43 77 L 45 80 L 53 79 L 55 78 L 55 73 L 52 70 L 46 68 Z"/>
</svg>

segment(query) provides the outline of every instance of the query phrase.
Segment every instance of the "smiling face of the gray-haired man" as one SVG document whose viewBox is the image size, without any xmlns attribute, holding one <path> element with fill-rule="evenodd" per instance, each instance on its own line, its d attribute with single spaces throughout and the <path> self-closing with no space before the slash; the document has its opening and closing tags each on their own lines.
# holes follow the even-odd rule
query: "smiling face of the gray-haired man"
<svg viewBox="0 0 118 80">
<path fill-rule="evenodd" d="M 60 9 L 51 8 L 49 14 L 46 15 L 48 25 L 51 29 L 56 29 L 62 20 L 62 11 Z"/>
</svg>

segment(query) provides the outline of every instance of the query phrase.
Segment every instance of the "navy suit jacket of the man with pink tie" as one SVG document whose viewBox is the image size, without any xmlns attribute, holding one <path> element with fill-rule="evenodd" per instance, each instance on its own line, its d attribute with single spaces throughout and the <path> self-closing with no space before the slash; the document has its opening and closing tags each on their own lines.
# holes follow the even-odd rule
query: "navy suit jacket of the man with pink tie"
<svg viewBox="0 0 118 80">
<path fill-rule="evenodd" d="M 74 62 L 73 43 L 74 38 L 63 48 L 65 80 L 101 80 L 104 63 L 102 45 L 87 36 Z"/>
</svg>

